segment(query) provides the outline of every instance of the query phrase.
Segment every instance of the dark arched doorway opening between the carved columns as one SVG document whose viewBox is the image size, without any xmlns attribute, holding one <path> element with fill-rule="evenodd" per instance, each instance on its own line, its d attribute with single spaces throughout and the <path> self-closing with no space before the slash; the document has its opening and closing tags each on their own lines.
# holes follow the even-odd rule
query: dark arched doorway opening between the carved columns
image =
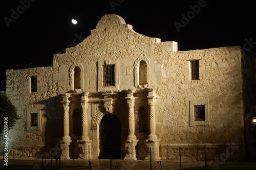
<svg viewBox="0 0 256 170">
<path fill-rule="evenodd" d="M 100 159 L 121 159 L 121 123 L 114 114 L 100 122 Z"/>
</svg>

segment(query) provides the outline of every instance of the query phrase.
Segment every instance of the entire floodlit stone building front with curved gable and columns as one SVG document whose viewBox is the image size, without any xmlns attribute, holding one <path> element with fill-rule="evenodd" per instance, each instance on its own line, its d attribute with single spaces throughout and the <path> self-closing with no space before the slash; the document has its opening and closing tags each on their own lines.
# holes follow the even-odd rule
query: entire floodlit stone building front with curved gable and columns
<svg viewBox="0 0 256 170">
<path fill-rule="evenodd" d="M 199 78 L 191 80 L 196 72 Z M 168 157 L 166 146 L 174 146 L 172 153 L 179 145 L 245 148 L 250 122 L 244 115 L 255 114 L 254 53 L 239 46 L 178 51 L 177 42 L 136 33 L 115 14 L 104 15 L 80 44 L 54 54 L 52 67 L 6 74 L 6 94 L 21 117 L 11 144 L 55 147 L 65 159 L 101 158 L 108 147 L 119 159 L 147 159 L 151 150 L 155 160 Z M 195 120 L 198 105 L 202 120 Z M 111 138 L 103 132 L 111 126 L 103 121 L 109 114 L 120 121 L 117 148 L 104 143 Z"/>
</svg>

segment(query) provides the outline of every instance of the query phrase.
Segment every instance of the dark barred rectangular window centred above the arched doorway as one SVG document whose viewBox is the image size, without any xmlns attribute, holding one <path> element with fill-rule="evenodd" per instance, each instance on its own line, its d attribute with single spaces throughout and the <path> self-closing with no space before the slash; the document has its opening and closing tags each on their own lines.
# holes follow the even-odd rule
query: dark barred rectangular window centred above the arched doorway
<svg viewBox="0 0 256 170">
<path fill-rule="evenodd" d="M 115 86 L 115 65 L 104 65 L 103 67 L 103 86 Z"/>
</svg>

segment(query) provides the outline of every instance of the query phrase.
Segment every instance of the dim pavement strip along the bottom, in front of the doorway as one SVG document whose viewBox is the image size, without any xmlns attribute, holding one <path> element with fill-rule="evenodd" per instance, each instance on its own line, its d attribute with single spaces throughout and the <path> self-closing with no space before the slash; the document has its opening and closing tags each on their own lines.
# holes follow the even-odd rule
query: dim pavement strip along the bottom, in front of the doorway
<svg viewBox="0 0 256 170">
<path fill-rule="evenodd" d="M 1 159 L 3 162 L 3 158 Z M 44 166 L 44 170 L 55 169 L 56 166 L 56 160 L 54 159 L 51 163 L 51 159 L 47 159 L 46 163 L 45 160 L 43 161 L 46 166 Z M 89 162 L 88 160 L 61 160 L 61 169 L 70 170 L 70 169 L 89 169 Z M 167 161 L 162 160 L 162 169 L 180 169 L 180 162 L 179 161 Z M 3 163 L 0 164 L 0 169 L 4 169 Z M 28 167 L 28 169 L 41 169 L 41 159 L 9 159 L 8 160 L 7 169 L 11 169 L 11 165 L 19 165 L 13 167 L 14 169 L 26 169 L 22 168 L 25 165 L 31 165 Z M 196 167 L 196 166 L 204 166 L 204 162 L 182 162 L 181 163 L 182 168 L 188 168 L 188 167 Z M 58 161 L 58 169 L 59 169 L 59 161 Z M 111 169 L 111 161 L 107 159 L 101 159 L 101 160 L 91 160 L 91 169 Z M 150 160 L 112 160 L 112 169 L 122 169 L 122 170 L 135 170 L 135 169 L 150 169 Z M 160 162 L 157 163 L 157 161 L 152 161 L 152 169 L 161 169 Z"/>
</svg>

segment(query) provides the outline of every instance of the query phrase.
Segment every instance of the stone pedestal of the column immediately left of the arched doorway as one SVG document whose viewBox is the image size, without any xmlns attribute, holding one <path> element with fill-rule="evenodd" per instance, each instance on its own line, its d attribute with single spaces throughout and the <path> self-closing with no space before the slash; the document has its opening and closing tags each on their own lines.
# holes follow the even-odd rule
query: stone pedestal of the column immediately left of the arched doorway
<svg viewBox="0 0 256 170">
<path fill-rule="evenodd" d="M 92 150 L 92 141 L 91 140 L 78 140 L 78 147 L 80 148 L 80 151 L 82 152 L 79 154 L 78 159 L 85 159 L 89 160 L 91 159 L 91 150 Z M 90 150 L 89 150 L 90 148 Z"/>
</svg>

